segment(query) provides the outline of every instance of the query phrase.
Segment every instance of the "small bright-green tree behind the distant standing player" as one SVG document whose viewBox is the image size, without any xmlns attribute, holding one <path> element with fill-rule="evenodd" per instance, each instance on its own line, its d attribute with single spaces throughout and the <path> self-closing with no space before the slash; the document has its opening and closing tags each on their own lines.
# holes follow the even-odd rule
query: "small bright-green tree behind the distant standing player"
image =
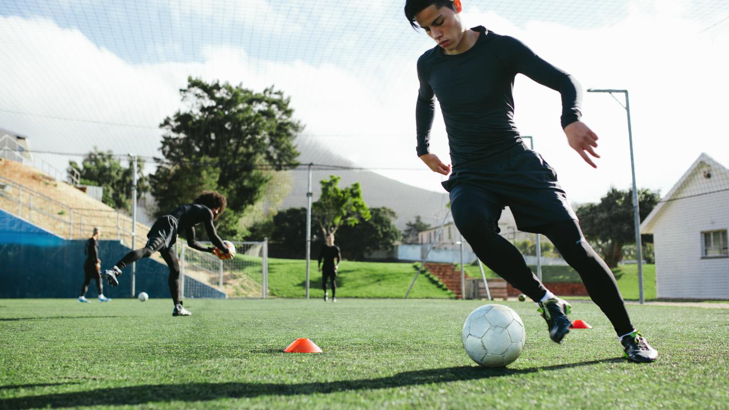
<svg viewBox="0 0 729 410">
<path fill-rule="evenodd" d="M 330 176 L 321 181 L 321 195 L 313 203 L 313 216 L 327 237 L 335 234 L 340 226 L 354 226 L 359 221 L 369 221 L 372 217 L 370 209 L 362 199 L 362 186 L 355 182 L 348 188 L 340 188 L 340 176 Z"/>
</svg>

